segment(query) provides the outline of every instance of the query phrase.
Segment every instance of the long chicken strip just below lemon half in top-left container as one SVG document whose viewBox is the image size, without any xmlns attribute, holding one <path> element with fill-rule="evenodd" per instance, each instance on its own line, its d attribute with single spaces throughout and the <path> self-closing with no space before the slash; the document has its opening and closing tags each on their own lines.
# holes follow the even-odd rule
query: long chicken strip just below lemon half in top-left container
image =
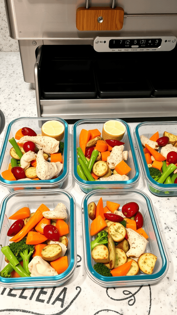
<svg viewBox="0 0 177 315">
<path fill-rule="evenodd" d="M 26 141 L 32 141 L 35 143 L 39 150 L 43 149 L 45 153 L 56 153 L 59 150 L 59 141 L 48 136 L 24 136 L 18 142 L 25 143 Z"/>
</svg>

